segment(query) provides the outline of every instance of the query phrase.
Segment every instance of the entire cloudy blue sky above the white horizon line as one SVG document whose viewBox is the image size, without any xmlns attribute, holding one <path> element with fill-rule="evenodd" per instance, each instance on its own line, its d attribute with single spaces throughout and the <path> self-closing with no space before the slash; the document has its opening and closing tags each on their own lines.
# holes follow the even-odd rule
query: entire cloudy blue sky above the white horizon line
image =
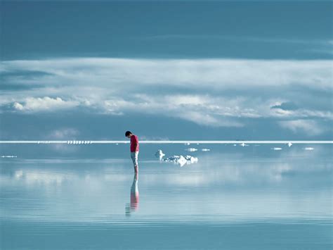
<svg viewBox="0 0 333 250">
<path fill-rule="evenodd" d="M 332 13 L 1 1 L 0 139 L 333 139 Z"/>
</svg>

